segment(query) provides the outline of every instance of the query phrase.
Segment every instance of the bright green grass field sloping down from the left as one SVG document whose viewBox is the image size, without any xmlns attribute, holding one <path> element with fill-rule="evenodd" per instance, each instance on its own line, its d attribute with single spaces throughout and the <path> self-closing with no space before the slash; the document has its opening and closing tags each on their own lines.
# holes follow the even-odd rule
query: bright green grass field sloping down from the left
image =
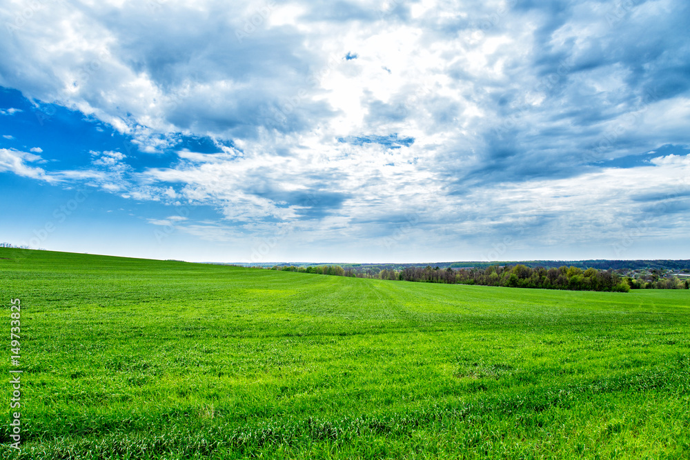
<svg viewBox="0 0 690 460">
<path fill-rule="evenodd" d="M 0 457 L 690 458 L 690 292 L 0 249 Z"/>
</svg>

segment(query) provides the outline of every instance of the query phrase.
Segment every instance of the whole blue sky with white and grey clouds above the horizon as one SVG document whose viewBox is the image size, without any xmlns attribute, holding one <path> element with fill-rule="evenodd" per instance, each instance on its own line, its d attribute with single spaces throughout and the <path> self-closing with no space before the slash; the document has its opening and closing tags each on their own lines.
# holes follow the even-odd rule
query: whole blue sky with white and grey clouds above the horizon
<svg viewBox="0 0 690 460">
<path fill-rule="evenodd" d="M 686 1 L 0 5 L 0 241 L 690 258 Z"/>
</svg>

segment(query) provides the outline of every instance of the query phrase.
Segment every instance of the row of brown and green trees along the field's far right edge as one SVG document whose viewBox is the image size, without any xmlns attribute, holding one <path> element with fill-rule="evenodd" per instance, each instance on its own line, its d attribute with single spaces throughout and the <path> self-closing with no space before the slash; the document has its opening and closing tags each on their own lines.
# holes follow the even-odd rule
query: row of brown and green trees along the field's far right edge
<svg viewBox="0 0 690 460">
<path fill-rule="evenodd" d="M 330 274 L 339 277 L 375 278 L 393 281 L 417 281 L 423 283 L 478 284 L 507 288 L 538 288 L 561 290 L 593 290 L 604 292 L 629 292 L 631 289 L 688 289 L 690 281 L 676 277 L 658 278 L 648 282 L 622 277 L 613 270 L 598 270 L 575 266 L 559 268 L 531 268 L 522 263 L 515 266 L 488 266 L 486 268 L 440 268 L 410 266 L 402 270 L 384 268 L 375 273 L 371 268 L 329 266 L 273 266 L 273 270 Z"/>
</svg>

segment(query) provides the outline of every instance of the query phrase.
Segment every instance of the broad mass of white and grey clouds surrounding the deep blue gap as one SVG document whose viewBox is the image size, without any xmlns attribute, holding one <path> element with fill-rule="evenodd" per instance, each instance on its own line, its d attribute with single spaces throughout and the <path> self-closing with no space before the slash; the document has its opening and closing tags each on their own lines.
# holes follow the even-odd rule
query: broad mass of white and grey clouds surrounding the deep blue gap
<svg viewBox="0 0 690 460">
<path fill-rule="evenodd" d="M 0 6 L 0 86 L 110 123 L 141 152 L 177 150 L 139 171 L 130 152 L 97 152 L 60 177 L 211 204 L 226 222 L 186 223 L 197 234 L 319 221 L 355 238 L 415 215 L 411 237 L 517 226 L 560 241 L 562 226 L 647 216 L 629 195 L 687 172 L 683 1 L 48 2 L 19 21 L 25 7 Z M 680 150 L 616 166 L 664 145 Z"/>
</svg>

